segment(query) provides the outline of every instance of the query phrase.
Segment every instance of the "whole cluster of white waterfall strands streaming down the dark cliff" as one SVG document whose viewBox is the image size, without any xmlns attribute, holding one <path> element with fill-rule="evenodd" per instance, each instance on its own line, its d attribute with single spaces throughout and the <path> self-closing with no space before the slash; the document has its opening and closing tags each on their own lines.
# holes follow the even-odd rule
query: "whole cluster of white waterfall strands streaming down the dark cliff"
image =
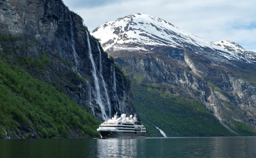
<svg viewBox="0 0 256 158">
<path fill-rule="evenodd" d="M 75 49 L 73 23 L 72 23 L 71 15 L 70 15 L 70 35 L 71 35 L 72 53 L 73 53 L 73 57 L 74 57 L 73 61 L 75 61 L 75 64 L 76 64 L 72 67 L 72 69 L 81 78 L 83 78 L 86 81 L 85 82 L 86 89 L 85 89 L 84 93 L 86 93 L 86 103 L 87 103 L 87 106 L 90 108 L 91 113 L 94 116 L 97 115 L 100 118 L 102 118 L 103 120 L 107 121 L 112 116 L 112 103 L 111 102 L 113 102 L 114 109 L 120 111 L 121 113 L 125 113 L 125 111 L 124 111 L 125 103 L 121 102 L 118 92 L 117 92 L 119 90 L 119 88 L 117 85 L 118 81 L 116 80 L 116 75 L 117 75 L 116 70 L 114 67 L 111 67 L 111 68 L 113 68 L 112 72 L 111 72 L 111 76 L 110 76 L 110 78 L 112 79 L 111 80 L 112 84 L 108 85 L 107 82 L 105 82 L 105 78 L 104 78 L 104 69 L 102 67 L 102 65 L 103 65 L 102 52 L 100 49 L 100 45 L 97 42 L 99 56 L 97 56 L 97 58 L 96 58 L 97 61 L 96 61 L 95 58 L 93 57 L 92 46 L 91 46 L 89 34 L 87 31 L 86 31 L 86 36 L 87 36 L 86 40 L 87 40 L 87 45 L 88 45 L 88 55 L 89 55 L 91 66 L 92 66 L 91 72 L 92 72 L 92 76 L 93 76 L 93 82 L 92 83 L 88 82 L 87 79 L 84 78 L 83 76 L 81 76 L 81 74 L 79 73 L 79 71 L 81 71 L 81 69 L 78 70 L 80 59 L 79 59 L 79 56 L 76 53 L 76 49 Z M 125 87 L 123 79 L 121 81 L 121 87 Z M 111 94 L 113 94 L 112 98 L 110 96 Z M 126 99 L 125 90 L 122 90 L 121 96 L 122 96 L 123 100 Z M 96 111 L 100 111 L 100 113 L 98 113 Z"/>
</svg>

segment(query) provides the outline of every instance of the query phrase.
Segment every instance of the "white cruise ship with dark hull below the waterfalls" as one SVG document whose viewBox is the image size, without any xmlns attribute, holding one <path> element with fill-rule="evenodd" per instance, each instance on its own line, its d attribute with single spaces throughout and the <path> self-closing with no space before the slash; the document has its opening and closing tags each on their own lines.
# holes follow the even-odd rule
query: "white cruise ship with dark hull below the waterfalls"
<svg viewBox="0 0 256 158">
<path fill-rule="evenodd" d="M 126 117 L 117 113 L 108 121 L 103 122 L 97 129 L 101 138 L 145 138 L 146 128 L 134 117 Z"/>
</svg>

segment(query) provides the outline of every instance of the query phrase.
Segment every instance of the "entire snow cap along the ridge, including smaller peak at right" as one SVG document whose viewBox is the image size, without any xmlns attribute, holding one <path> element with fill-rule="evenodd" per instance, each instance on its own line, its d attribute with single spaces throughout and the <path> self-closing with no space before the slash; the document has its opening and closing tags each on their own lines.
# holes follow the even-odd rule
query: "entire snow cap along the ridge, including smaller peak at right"
<svg viewBox="0 0 256 158">
<path fill-rule="evenodd" d="M 234 42 L 207 42 L 148 14 L 133 14 L 107 22 L 93 30 L 92 34 L 101 40 L 102 47 L 107 51 L 113 49 L 150 53 L 153 48 L 148 46 L 152 45 L 182 48 L 198 54 L 205 54 L 206 50 L 209 52 L 211 49 L 224 59 L 256 62 L 254 52 L 246 51 Z"/>
</svg>

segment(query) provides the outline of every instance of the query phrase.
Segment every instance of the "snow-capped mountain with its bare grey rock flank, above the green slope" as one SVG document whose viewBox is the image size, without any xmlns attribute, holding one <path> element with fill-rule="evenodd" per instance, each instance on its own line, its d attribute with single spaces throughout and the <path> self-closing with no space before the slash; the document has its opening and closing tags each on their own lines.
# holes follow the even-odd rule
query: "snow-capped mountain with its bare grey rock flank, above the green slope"
<svg viewBox="0 0 256 158">
<path fill-rule="evenodd" d="M 93 31 L 120 67 L 176 95 L 200 100 L 220 121 L 256 127 L 256 54 L 206 42 L 157 17 L 134 14 Z"/>
</svg>

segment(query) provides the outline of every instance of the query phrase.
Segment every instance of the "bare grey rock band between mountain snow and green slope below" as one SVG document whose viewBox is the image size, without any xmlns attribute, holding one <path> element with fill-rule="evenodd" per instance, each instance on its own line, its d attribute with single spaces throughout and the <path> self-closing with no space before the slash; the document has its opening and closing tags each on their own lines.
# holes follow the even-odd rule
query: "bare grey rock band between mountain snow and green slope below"
<svg viewBox="0 0 256 158">
<path fill-rule="evenodd" d="M 185 54 L 188 53 L 182 56 Z M 256 125 L 255 85 L 231 72 L 207 68 L 205 64 L 188 60 L 179 60 L 179 63 L 167 56 L 152 54 L 115 59 L 128 74 L 163 84 L 166 90 L 176 95 L 200 100 L 220 121 L 228 123 L 239 120 Z"/>
</svg>

